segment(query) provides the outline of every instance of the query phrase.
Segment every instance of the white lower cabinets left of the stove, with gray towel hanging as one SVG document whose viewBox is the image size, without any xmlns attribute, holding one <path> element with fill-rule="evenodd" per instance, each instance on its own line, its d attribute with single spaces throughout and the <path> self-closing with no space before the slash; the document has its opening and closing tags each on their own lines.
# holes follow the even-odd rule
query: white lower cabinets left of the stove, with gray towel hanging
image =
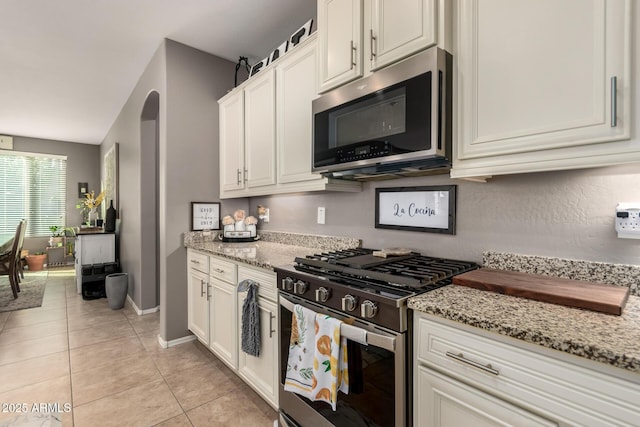
<svg viewBox="0 0 640 427">
<path fill-rule="evenodd" d="M 278 407 L 278 306 L 276 274 L 242 262 L 188 249 L 188 327 L 273 408 Z M 258 283 L 260 356 L 241 349 L 242 306 L 238 283 Z"/>
</svg>

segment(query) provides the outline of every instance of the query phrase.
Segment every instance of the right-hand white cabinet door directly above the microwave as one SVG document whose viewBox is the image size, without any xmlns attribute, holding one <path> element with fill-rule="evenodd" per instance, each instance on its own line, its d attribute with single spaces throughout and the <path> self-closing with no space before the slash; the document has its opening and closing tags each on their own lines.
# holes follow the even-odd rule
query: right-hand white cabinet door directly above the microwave
<svg viewBox="0 0 640 427">
<path fill-rule="evenodd" d="M 371 69 L 436 44 L 436 0 L 373 0 Z"/>
</svg>

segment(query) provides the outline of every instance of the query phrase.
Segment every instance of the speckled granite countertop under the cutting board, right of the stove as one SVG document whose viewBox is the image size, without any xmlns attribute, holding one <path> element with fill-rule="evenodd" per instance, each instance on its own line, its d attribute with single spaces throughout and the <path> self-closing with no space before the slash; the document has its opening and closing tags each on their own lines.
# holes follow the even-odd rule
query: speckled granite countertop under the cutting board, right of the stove
<svg viewBox="0 0 640 427">
<path fill-rule="evenodd" d="M 507 265 L 496 261 L 499 256 L 493 259 L 491 256 L 495 257 L 496 254 L 490 253 L 489 258 L 485 254 L 483 266 L 530 272 L 526 271 L 527 268 L 522 263 L 517 266 Z M 545 271 L 545 268 L 540 267 L 545 263 L 538 263 L 540 259 L 538 257 L 535 260 L 537 274 Z M 561 273 L 562 268 L 558 267 L 557 259 L 552 264 L 551 269 L 547 268 L 547 273 L 566 276 Z M 574 268 L 576 261 L 571 260 L 569 264 Z M 547 267 L 549 265 L 551 264 Z M 636 293 L 640 267 L 626 267 L 631 268 L 619 270 L 625 272 L 627 280 L 631 274 L 636 286 L 633 287 L 621 316 L 458 285 L 448 285 L 411 298 L 409 308 L 640 373 L 640 297 Z M 610 275 L 612 270 L 609 268 L 603 271 L 609 271 Z M 581 279 L 585 280 L 584 277 Z M 607 282 L 602 277 L 598 279 L 600 280 L 592 281 Z M 618 281 L 615 277 L 609 279 Z"/>
</svg>

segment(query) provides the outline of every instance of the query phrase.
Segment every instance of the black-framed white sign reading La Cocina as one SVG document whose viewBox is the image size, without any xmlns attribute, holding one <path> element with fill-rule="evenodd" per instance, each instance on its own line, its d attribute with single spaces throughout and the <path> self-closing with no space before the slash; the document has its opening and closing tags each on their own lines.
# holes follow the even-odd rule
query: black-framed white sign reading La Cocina
<svg viewBox="0 0 640 427">
<path fill-rule="evenodd" d="M 376 188 L 376 228 L 456 234 L 456 186 Z"/>
</svg>

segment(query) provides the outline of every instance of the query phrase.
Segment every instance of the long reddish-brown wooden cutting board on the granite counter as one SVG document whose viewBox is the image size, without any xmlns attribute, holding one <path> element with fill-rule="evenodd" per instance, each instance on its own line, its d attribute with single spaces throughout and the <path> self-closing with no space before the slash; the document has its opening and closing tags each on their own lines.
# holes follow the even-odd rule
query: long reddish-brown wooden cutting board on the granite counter
<svg viewBox="0 0 640 427">
<path fill-rule="evenodd" d="M 515 271 L 480 268 L 453 278 L 456 285 L 569 307 L 621 315 L 629 297 L 626 286 L 581 282 Z"/>
</svg>

